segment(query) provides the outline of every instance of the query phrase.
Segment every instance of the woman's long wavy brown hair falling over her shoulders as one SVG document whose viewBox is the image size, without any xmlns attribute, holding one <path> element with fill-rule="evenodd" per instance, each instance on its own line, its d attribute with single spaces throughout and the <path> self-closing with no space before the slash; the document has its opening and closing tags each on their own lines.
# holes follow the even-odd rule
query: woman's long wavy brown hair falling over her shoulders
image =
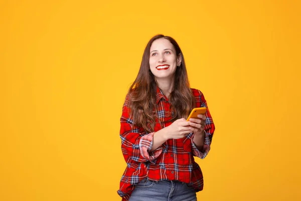
<svg viewBox="0 0 301 201">
<path fill-rule="evenodd" d="M 174 114 L 170 121 L 187 118 L 196 105 L 195 97 L 189 87 L 184 56 L 178 43 L 170 36 L 154 36 L 144 49 L 138 75 L 129 88 L 126 100 L 130 118 L 136 126 L 142 127 L 146 132 L 154 132 L 156 118 L 158 118 L 156 107 L 157 82 L 149 69 L 149 51 L 153 42 L 160 38 L 169 40 L 175 47 L 177 56 L 181 54 L 182 57 L 182 63 L 180 67 L 177 67 L 175 73 L 174 90 L 169 96 Z M 160 122 L 159 118 L 158 120 Z"/>
</svg>

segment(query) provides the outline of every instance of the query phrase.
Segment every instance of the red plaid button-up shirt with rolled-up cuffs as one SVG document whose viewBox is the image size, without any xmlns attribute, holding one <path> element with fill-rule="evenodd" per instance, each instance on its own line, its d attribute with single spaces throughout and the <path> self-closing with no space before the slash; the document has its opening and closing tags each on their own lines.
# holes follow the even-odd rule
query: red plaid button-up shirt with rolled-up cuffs
<svg viewBox="0 0 301 201">
<path fill-rule="evenodd" d="M 122 200 L 128 200 L 135 184 L 144 178 L 155 181 L 178 180 L 192 184 L 196 191 L 203 189 L 203 174 L 193 156 L 205 158 L 210 150 L 213 132 L 215 130 L 209 109 L 203 93 L 191 89 L 196 98 L 196 107 L 206 107 L 205 142 L 202 151 L 199 151 L 193 142 L 194 134 L 190 133 L 182 139 L 169 139 L 156 150 L 149 152 L 153 146 L 154 133 L 146 133 L 136 127 L 129 119 L 126 104 L 122 108 L 120 118 L 121 150 L 127 167 L 120 180 L 120 189 L 117 193 Z M 157 111 L 163 128 L 172 124 L 168 98 L 157 88 Z M 164 123 L 167 122 L 167 123 Z M 156 120 L 155 132 L 161 130 Z"/>
</svg>

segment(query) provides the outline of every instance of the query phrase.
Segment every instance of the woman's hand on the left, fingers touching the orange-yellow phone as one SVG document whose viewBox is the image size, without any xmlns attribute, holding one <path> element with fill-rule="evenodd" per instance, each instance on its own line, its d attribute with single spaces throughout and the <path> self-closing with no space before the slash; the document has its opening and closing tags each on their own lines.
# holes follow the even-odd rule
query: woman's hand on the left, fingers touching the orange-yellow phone
<svg viewBox="0 0 301 201">
<path fill-rule="evenodd" d="M 174 121 L 170 126 L 165 128 L 166 139 L 181 139 L 190 133 L 197 132 L 197 128 L 190 126 L 189 123 L 184 118 Z"/>
</svg>

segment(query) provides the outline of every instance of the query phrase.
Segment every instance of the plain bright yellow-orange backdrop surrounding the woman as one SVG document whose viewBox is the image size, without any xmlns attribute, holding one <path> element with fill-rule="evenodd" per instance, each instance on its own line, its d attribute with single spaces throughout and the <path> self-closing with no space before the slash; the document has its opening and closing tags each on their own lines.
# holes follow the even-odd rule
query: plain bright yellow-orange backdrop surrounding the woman
<svg viewBox="0 0 301 201">
<path fill-rule="evenodd" d="M 199 200 L 300 200 L 298 1 L 0 3 L 0 199 L 120 200 L 119 118 L 174 37 L 216 125 Z"/>
</svg>

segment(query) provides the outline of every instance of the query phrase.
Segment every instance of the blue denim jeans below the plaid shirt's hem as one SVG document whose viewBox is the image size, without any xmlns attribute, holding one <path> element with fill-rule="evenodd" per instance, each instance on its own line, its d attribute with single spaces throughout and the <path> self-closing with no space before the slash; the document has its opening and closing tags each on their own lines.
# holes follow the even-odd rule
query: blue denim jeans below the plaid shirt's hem
<svg viewBox="0 0 301 201">
<path fill-rule="evenodd" d="M 153 181 L 137 183 L 129 201 L 197 201 L 195 189 L 180 181 Z"/>
</svg>

